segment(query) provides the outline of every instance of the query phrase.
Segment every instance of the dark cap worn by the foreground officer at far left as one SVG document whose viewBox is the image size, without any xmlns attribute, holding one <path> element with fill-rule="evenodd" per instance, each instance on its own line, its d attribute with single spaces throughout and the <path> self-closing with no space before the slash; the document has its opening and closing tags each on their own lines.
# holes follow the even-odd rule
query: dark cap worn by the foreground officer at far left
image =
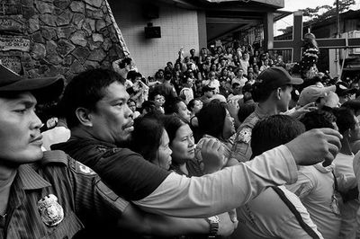
<svg viewBox="0 0 360 239">
<path fill-rule="evenodd" d="M 27 78 L 0 64 L 0 93 L 31 92 L 38 102 L 58 99 L 64 88 L 64 76 Z"/>
</svg>

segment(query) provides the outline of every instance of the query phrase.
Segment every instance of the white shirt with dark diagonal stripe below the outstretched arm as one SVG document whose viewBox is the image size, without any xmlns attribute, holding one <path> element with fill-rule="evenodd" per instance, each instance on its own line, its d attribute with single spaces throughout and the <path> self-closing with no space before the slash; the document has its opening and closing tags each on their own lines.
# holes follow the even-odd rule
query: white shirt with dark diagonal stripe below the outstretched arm
<svg viewBox="0 0 360 239">
<path fill-rule="evenodd" d="M 284 186 L 278 188 L 300 213 L 303 222 L 323 238 L 301 200 Z M 238 228 L 230 238 L 312 238 L 273 188 L 267 188 L 237 212 Z"/>
</svg>

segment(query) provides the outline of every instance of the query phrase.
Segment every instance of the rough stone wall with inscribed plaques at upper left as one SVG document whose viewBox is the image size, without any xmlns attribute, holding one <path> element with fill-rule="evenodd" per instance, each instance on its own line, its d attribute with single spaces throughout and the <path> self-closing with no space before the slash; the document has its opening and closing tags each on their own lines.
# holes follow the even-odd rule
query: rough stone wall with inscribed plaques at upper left
<svg viewBox="0 0 360 239">
<path fill-rule="evenodd" d="M 69 80 L 128 55 L 106 0 L 0 1 L 0 59 L 20 75 Z"/>
</svg>

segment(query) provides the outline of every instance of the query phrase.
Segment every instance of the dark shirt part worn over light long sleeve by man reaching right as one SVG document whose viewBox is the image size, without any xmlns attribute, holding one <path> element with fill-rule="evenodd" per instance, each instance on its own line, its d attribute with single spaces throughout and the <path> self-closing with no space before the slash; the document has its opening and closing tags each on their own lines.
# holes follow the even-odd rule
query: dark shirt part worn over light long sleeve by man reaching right
<svg viewBox="0 0 360 239">
<path fill-rule="evenodd" d="M 146 198 L 170 174 L 128 148 L 95 139 L 71 137 L 51 148 L 63 150 L 92 168 L 112 190 L 130 201 Z"/>
</svg>

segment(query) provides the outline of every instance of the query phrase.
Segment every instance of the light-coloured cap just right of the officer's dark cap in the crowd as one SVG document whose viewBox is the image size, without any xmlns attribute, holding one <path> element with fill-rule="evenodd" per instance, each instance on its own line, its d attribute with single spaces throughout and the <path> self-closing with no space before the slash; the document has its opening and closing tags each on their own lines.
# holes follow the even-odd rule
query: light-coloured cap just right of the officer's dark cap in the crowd
<svg viewBox="0 0 360 239">
<path fill-rule="evenodd" d="M 320 87 L 319 85 L 310 85 L 302 90 L 299 97 L 299 104 L 304 106 L 308 103 L 315 102 L 320 97 L 326 97 L 329 92 L 335 93 L 337 89 L 336 85 L 331 85 L 328 87 Z"/>
</svg>

